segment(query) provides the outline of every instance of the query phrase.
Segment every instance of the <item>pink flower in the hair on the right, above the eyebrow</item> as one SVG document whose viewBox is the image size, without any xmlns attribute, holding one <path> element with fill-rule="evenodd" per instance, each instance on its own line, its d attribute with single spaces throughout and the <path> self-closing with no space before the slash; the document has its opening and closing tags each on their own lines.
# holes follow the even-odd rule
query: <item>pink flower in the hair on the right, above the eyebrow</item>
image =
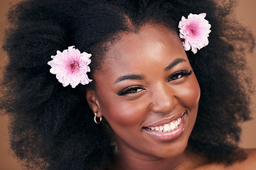
<svg viewBox="0 0 256 170">
<path fill-rule="evenodd" d="M 188 19 L 182 16 L 178 23 L 180 28 L 180 38 L 183 38 L 183 46 L 186 51 L 192 50 L 196 54 L 197 50 L 208 45 L 210 33 L 210 23 L 205 19 L 206 13 L 199 15 L 190 13 Z"/>
</svg>

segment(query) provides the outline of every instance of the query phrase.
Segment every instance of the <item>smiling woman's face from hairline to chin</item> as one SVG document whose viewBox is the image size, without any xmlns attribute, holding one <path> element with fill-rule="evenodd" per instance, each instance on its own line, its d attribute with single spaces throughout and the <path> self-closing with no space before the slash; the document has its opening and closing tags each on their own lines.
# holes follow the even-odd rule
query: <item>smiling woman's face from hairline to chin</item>
<svg viewBox="0 0 256 170">
<path fill-rule="evenodd" d="M 145 26 L 121 35 L 106 58 L 94 75 L 92 108 L 114 130 L 119 151 L 141 158 L 181 154 L 196 120 L 200 88 L 178 35 Z"/>
</svg>

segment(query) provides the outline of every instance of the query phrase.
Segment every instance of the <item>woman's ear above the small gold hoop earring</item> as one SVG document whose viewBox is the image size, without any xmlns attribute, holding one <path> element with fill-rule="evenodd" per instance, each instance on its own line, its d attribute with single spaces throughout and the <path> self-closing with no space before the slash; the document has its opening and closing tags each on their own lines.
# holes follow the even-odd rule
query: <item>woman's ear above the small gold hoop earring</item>
<svg viewBox="0 0 256 170">
<path fill-rule="evenodd" d="M 86 100 L 87 100 L 90 108 L 92 109 L 92 112 L 97 113 L 97 117 L 102 117 L 100 103 L 99 103 L 99 100 L 97 99 L 95 91 L 87 90 L 86 91 Z"/>
</svg>

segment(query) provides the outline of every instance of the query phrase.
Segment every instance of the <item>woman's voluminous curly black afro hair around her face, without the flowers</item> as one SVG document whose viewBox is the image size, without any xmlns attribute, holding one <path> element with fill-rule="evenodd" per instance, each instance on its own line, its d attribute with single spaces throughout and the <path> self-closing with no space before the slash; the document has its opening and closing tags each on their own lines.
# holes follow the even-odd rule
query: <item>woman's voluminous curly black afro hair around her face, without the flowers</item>
<svg viewBox="0 0 256 170">
<path fill-rule="evenodd" d="M 244 56 L 254 39 L 230 15 L 234 5 L 231 0 L 27 0 L 11 8 L 0 108 L 11 120 L 16 157 L 28 169 L 104 169 L 114 150 L 106 121 L 96 125 L 87 106 L 85 91 L 95 84 L 64 88 L 49 72 L 50 56 L 70 45 L 92 53 L 93 79 L 105 62 L 107 42 L 118 42 L 120 33 L 137 33 L 151 23 L 178 34 L 181 16 L 207 13 L 209 45 L 196 55 L 186 52 L 201 86 L 188 148 L 208 162 L 245 159 L 238 123 L 250 119 L 252 88 Z"/>
</svg>

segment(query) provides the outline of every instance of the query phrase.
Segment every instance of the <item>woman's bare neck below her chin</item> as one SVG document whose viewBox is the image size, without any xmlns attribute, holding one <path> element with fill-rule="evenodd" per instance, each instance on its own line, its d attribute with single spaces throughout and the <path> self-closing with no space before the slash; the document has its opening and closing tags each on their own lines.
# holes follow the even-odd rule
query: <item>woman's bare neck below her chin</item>
<svg viewBox="0 0 256 170">
<path fill-rule="evenodd" d="M 177 157 L 159 158 L 133 151 L 127 152 L 127 150 L 119 148 L 117 150 L 116 160 L 112 164 L 112 169 L 181 170 L 194 169 L 204 163 L 204 159 L 192 152 L 188 152 L 187 149 Z"/>
</svg>

